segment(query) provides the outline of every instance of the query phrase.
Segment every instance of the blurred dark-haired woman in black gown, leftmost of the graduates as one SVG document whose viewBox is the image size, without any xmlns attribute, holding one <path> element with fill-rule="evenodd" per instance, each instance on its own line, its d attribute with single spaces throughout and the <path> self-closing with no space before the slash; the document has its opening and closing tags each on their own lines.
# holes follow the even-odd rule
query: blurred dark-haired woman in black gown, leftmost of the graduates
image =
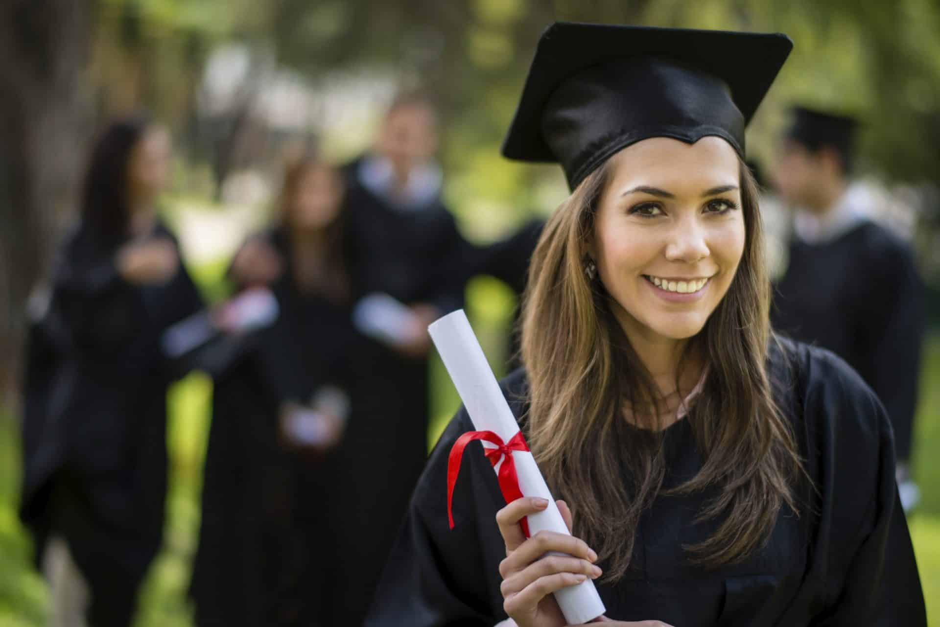
<svg viewBox="0 0 940 627">
<path fill-rule="evenodd" d="M 169 167 L 169 134 L 149 119 L 102 133 L 81 221 L 34 309 L 21 515 L 52 591 L 52 625 L 130 625 L 160 547 L 166 388 L 182 374 L 160 338 L 202 307 L 155 212 Z"/>
</svg>

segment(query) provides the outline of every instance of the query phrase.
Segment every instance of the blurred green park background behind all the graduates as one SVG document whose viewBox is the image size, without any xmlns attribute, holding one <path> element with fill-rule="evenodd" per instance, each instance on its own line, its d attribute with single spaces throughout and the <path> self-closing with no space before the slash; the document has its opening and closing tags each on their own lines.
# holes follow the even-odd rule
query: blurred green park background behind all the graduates
<svg viewBox="0 0 940 627">
<path fill-rule="evenodd" d="M 177 141 L 164 215 L 208 299 L 268 216 L 292 141 L 343 161 L 368 146 L 399 86 L 442 107 L 446 200 L 477 242 L 565 196 L 556 167 L 498 155 L 542 28 L 554 20 L 781 31 L 795 49 L 748 135 L 765 169 L 794 100 L 861 115 L 859 175 L 882 217 L 912 237 L 931 289 L 911 519 L 931 624 L 940 627 L 940 3 L 936 0 L 8 0 L 0 7 L 0 627 L 44 624 L 45 590 L 16 517 L 16 371 L 24 303 L 73 217 L 86 147 L 109 118 L 146 106 Z M 864 280 L 864 277 L 858 277 Z M 494 279 L 467 308 L 497 373 L 515 305 Z M 434 366 L 432 442 L 457 405 Z M 137 625 L 190 625 L 211 382 L 170 393 L 164 551 Z"/>
</svg>

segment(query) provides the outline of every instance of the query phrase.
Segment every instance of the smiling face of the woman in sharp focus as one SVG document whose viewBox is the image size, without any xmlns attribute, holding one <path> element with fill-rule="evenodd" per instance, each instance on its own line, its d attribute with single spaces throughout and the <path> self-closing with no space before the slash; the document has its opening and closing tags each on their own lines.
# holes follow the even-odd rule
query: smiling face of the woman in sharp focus
<svg viewBox="0 0 940 627">
<path fill-rule="evenodd" d="M 620 150 L 589 246 L 627 337 L 684 339 L 708 321 L 744 252 L 738 155 L 718 137 Z"/>
</svg>

